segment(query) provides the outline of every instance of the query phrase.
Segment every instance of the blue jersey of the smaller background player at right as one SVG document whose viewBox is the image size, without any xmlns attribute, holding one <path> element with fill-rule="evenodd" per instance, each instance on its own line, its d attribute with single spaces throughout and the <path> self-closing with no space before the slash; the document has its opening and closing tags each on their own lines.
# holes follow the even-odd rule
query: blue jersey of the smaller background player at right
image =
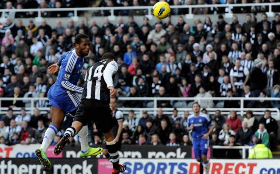
<svg viewBox="0 0 280 174">
<path fill-rule="evenodd" d="M 201 112 L 198 117 L 195 117 L 194 114 L 188 117 L 188 125 L 191 126 L 192 124 L 194 124 L 192 131 L 194 138 L 202 137 L 203 134 L 208 132 L 208 127 L 212 126 L 209 116 Z"/>
</svg>

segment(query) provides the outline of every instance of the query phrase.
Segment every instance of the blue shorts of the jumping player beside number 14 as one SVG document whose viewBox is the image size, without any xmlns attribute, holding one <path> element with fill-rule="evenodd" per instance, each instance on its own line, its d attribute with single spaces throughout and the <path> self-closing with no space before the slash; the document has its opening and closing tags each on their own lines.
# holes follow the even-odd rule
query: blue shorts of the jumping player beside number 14
<svg viewBox="0 0 280 174">
<path fill-rule="evenodd" d="M 65 114 L 78 109 L 81 103 L 81 98 L 78 96 L 78 93 L 61 89 L 61 87 L 56 85 L 50 88 L 48 98 L 51 106 L 63 110 Z"/>
</svg>

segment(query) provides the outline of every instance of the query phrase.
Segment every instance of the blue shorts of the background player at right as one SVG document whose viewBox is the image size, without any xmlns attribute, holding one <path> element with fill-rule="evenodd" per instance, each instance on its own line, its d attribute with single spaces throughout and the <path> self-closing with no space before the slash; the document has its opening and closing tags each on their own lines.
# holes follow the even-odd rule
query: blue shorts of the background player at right
<svg viewBox="0 0 280 174">
<path fill-rule="evenodd" d="M 203 139 L 202 137 L 193 138 L 193 149 L 196 159 L 201 158 L 201 155 L 207 155 L 208 139 Z"/>
</svg>

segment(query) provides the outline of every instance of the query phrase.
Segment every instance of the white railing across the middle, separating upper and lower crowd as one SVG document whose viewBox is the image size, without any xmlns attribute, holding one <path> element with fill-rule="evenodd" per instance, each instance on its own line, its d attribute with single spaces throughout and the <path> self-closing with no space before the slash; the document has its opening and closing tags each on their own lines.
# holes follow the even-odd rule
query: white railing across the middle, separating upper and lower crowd
<svg viewBox="0 0 280 174">
<path fill-rule="evenodd" d="M 1 107 L 2 106 L 2 102 L 5 101 L 11 101 L 11 100 L 25 100 L 25 101 L 30 101 L 30 107 L 26 107 L 26 109 L 28 110 L 28 114 L 33 114 L 33 110 L 35 109 L 36 106 L 36 102 L 38 100 L 44 100 L 44 101 L 48 101 L 48 98 L 0 98 L 0 114 L 6 114 L 8 107 Z M 156 115 L 157 113 L 157 102 L 161 101 L 161 100 L 170 100 L 170 101 L 189 101 L 188 105 L 186 103 L 184 103 L 185 105 L 181 105 L 179 107 L 177 107 L 179 114 L 181 114 L 184 111 L 190 111 L 192 112 L 192 108 L 191 108 L 191 103 L 192 101 L 196 100 L 198 103 L 200 103 L 200 101 L 202 100 L 218 100 L 220 101 L 219 103 L 222 104 L 217 104 L 216 107 L 212 107 L 212 108 L 206 108 L 208 113 L 211 114 L 215 114 L 215 111 L 217 109 L 221 110 L 222 114 L 228 114 L 230 110 L 235 110 L 237 111 L 237 114 L 243 116 L 243 114 L 245 113 L 246 110 L 252 110 L 254 115 L 263 115 L 264 110 L 270 110 L 272 112 L 272 117 L 274 117 L 276 120 L 280 120 L 280 111 L 278 108 L 245 108 L 244 107 L 244 101 L 259 101 L 259 100 L 269 100 L 269 101 L 280 101 L 280 98 L 240 98 L 240 97 L 232 97 L 232 98 L 223 98 L 223 97 L 213 97 L 213 98 L 196 98 L 196 97 L 190 97 L 190 98 L 152 98 L 152 97 L 138 97 L 138 98 L 129 98 L 129 97 L 119 97 L 118 101 L 122 102 L 122 101 L 132 101 L 132 100 L 140 100 L 140 101 L 146 101 L 150 106 L 147 106 L 145 108 L 125 108 L 125 107 L 119 107 L 118 109 L 123 111 L 124 114 L 128 114 L 129 110 L 134 110 L 135 113 L 138 115 L 138 117 L 142 116 L 142 112 L 143 111 L 147 111 L 149 114 L 152 115 Z M 240 108 L 224 108 L 223 107 L 223 101 L 224 100 L 237 100 L 240 102 Z M 147 105 L 148 105 L 147 104 Z M 18 114 L 20 113 L 20 107 L 15 107 L 14 109 L 14 113 Z M 49 111 L 49 107 L 39 107 L 38 109 L 40 109 L 42 111 L 42 113 L 46 113 L 47 111 Z M 163 108 L 164 114 L 172 114 L 172 110 L 173 108 Z"/>
</svg>

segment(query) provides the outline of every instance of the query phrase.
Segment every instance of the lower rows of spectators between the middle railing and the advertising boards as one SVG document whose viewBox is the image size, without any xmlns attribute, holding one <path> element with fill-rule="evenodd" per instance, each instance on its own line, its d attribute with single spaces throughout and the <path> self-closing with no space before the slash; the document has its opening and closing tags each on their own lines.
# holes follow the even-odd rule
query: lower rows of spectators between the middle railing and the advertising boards
<svg viewBox="0 0 280 174">
<path fill-rule="evenodd" d="M 202 112 L 207 114 L 205 109 Z M 192 146 L 192 136 L 187 124 L 189 115 L 188 111 L 180 115 L 176 108 L 172 115 L 164 115 L 162 108 L 158 108 L 157 115 L 149 116 L 147 112 L 143 112 L 139 119 L 131 110 L 123 121 L 123 129 L 118 141 L 122 145 Z M 210 146 L 255 146 L 259 139 L 265 146 L 276 149 L 279 125 L 271 117 L 269 110 L 266 110 L 259 120 L 254 117 L 251 110 L 246 112 L 243 119 L 237 116 L 236 111 L 230 111 L 229 115 L 223 116 L 220 110 L 210 118 L 214 125 Z M 30 116 L 24 108 L 19 115 L 14 115 L 13 109 L 10 108 L 7 115 L 0 120 L 0 144 L 41 143 L 49 123 L 51 123 L 50 114 L 40 114 L 39 109 L 35 109 L 34 114 Z M 53 145 L 63 135 L 63 128 L 71 123 L 72 118 L 67 116 Z M 89 130 L 90 145 L 101 145 L 103 137 L 95 124 L 92 124 Z M 78 135 L 70 139 L 72 145 L 78 142 Z M 214 157 L 241 157 L 238 149 L 235 151 L 214 149 L 213 154 Z"/>
</svg>

